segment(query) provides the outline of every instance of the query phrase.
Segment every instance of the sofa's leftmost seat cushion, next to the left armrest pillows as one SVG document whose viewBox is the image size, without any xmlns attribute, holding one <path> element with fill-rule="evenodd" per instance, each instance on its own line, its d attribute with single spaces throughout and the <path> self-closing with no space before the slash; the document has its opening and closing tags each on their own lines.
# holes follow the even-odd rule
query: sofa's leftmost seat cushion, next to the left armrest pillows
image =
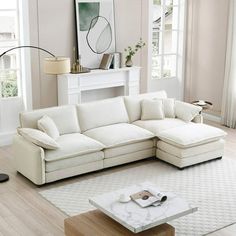
<svg viewBox="0 0 236 236">
<path fill-rule="evenodd" d="M 79 133 L 62 135 L 57 139 L 57 143 L 60 148 L 45 150 L 46 162 L 98 152 L 104 148 L 101 143 Z"/>
</svg>

